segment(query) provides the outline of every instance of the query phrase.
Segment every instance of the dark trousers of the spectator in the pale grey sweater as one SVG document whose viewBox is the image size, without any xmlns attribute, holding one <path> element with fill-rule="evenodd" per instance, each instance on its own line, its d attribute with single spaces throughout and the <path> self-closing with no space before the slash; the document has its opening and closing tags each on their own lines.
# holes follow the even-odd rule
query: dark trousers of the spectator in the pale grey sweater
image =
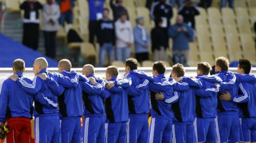
<svg viewBox="0 0 256 143">
<path fill-rule="evenodd" d="M 52 59 L 56 57 L 56 33 L 56 31 L 44 31 L 45 53 Z"/>
</svg>

